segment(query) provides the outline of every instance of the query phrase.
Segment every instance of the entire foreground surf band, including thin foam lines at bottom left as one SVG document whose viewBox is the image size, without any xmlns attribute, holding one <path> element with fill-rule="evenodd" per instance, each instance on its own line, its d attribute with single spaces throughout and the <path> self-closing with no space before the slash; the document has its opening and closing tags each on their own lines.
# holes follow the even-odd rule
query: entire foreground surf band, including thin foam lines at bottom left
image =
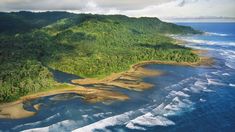
<svg viewBox="0 0 235 132">
<path fill-rule="evenodd" d="M 109 128 L 115 126 L 123 126 L 125 129 L 147 130 L 148 127 L 176 125 L 174 120 L 171 119 L 172 116 L 181 115 L 186 111 L 195 109 L 195 102 L 191 100 L 191 96 L 201 92 L 211 92 L 212 90 L 208 89 L 209 85 L 224 85 L 223 82 L 213 78 L 212 75 L 213 72 L 200 74 L 165 87 L 164 89 L 168 91 L 168 94 L 162 102 L 159 102 L 160 104 L 155 104 L 153 101 L 153 104 L 147 104 L 140 109 L 127 111 L 118 115 L 112 115 L 111 112 L 93 114 L 93 117 L 104 119 L 89 125 L 83 124 L 85 126 L 79 125 L 79 122 L 73 120 L 64 120 L 47 127 L 25 131 L 55 131 L 66 130 L 66 128 L 69 127 L 73 132 L 93 132 L 96 130 L 110 131 Z M 234 84 L 229 85 L 234 87 Z M 202 98 L 198 99 L 198 101 L 201 103 L 206 102 L 206 100 Z M 82 117 L 87 118 L 90 116 L 83 115 Z M 79 126 L 82 127 L 77 128 Z"/>
</svg>

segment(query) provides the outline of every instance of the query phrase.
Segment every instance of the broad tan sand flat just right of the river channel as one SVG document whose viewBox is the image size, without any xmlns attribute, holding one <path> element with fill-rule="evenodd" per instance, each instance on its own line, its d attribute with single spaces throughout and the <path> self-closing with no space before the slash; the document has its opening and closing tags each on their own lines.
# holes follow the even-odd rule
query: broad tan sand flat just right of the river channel
<svg viewBox="0 0 235 132">
<path fill-rule="evenodd" d="M 145 83 L 142 81 L 143 77 L 147 76 L 159 76 L 163 73 L 156 70 L 148 70 L 142 68 L 139 65 L 131 66 L 130 70 L 121 73 L 113 73 L 104 79 L 76 79 L 72 80 L 74 84 L 78 85 L 103 85 L 103 86 L 113 86 L 119 88 L 125 88 L 129 90 L 143 91 L 153 87 L 152 84 Z"/>
</svg>

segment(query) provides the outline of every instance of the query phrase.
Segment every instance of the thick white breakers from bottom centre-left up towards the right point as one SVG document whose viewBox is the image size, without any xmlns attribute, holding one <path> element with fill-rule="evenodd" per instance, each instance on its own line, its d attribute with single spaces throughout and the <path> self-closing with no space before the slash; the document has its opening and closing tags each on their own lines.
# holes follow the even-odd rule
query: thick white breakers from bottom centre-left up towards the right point
<svg viewBox="0 0 235 132">
<path fill-rule="evenodd" d="M 171 116 L 194 109 L 195 103 L 190 100 L 191 94 L 210 90 L 207 88 L 210 82 L 206 78 L 202 75 L 197 78 L 186 78 L 177 84 L 164 88 L 169 93 L 161 104 L 148 104 L 148 106 L 141 109 L 102 119 L 75 129 L 73 132 L 109 131 L 108 127 L 114 126 L 124 126 L 125 129 L 147 130 L 148 127 L 175 125 L 175 122 L 170 119 Z M 205 102 L 203 99 L 199 101 Z"/>
</svg>

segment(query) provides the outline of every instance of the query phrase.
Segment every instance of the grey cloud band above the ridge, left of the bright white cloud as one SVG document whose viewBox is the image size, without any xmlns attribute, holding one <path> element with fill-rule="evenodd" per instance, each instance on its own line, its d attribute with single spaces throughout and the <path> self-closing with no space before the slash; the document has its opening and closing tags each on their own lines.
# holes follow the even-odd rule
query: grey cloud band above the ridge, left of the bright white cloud
<svg viewBox="0 0 235 132">
<path fill-rule="evenodd" d="M 136 10 L 172 0 L 0 0 L 1 10 L 84 10 L 90 3 L 104 9 Z"/>
</svg>

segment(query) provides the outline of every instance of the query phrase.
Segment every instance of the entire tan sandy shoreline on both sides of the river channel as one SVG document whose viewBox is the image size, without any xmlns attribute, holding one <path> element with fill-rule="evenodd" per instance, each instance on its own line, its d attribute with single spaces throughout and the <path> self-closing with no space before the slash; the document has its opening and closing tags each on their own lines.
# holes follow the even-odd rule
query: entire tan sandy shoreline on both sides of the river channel
<svg viewBox="0 0 235 132">
<path fill-rule="evenodd" d="M 200 55 L 202 53 L 205 53 L 206 51 L 193 50 L 193 52 Z M 111 100 L 127 100 L 129 99 L 127 95 L 113 91 L 112 87 L 125 88 L 135 91 L 144 91 L 152 88 L 153 85 L 143 82 L 142 78 L 147 76 L 160 76 L 163 73 L 161 71 L 143 68 L 144 65 L 148 64 L 167 64 L 197 67 L 211 66 L 213 64 L 213 60 L 209 57 L 200 56 L 200 60 L 195 63 L 159 60 L 142 61 L 137 64 L 131 65 L 128 71 L 112 73 L 104 79 L 85 78 L 71 80 L 71 82 L 77 85 L 69 84 L 63 88 L 55 88 L 48 91 L 29 94 L 21 97 L 17 101 L 0 104 L 0 119 L 22 119 L 34 116 L 37 112 L 25 110 L 23 107 L 24 102 L 41 97 L 56 96 L 59 94 L 75 93 L 81 95 L 82 99 L 89 103 L 105 102 Z M 85 85 L 93 86 L 88 87 Z M 36 111 L 40 110 L 40 104 L 35 107 Z"/>
</svg>

